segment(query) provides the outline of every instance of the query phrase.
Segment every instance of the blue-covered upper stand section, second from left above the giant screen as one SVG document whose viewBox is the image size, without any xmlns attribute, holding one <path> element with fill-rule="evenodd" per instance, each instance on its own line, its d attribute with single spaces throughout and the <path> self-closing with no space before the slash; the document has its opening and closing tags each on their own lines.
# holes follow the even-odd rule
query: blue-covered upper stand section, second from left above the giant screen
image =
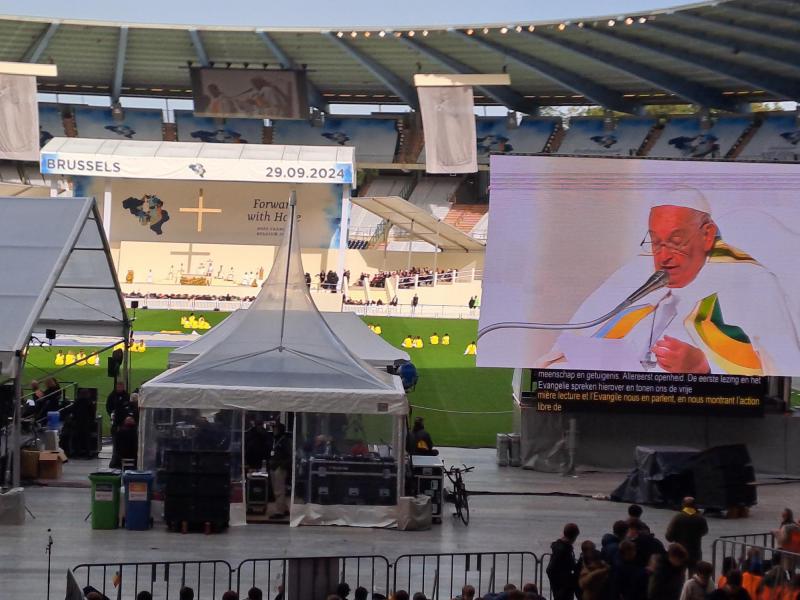
<svg viewBox="0 0 800 600">
<path fill-rule="evenodd" d="M 655 126 L 649 117 L 607 120 L 603 117 L 570 119 L 560 154 L 593 154 L 599 156 L 636 156 L 645 137 Z"/>
</svg>

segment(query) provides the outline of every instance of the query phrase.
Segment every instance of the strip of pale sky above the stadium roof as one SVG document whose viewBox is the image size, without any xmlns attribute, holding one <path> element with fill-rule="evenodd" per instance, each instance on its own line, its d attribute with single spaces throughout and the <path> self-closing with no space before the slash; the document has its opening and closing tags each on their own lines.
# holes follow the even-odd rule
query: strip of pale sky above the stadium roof
<svg viewBox="0 0 800 600">
<path fill-rule="evenodd" d="M 619 16 L 686 3 L 686 0 L 3 0 L 0 14 L 201 26 L 408 27 Z"/>
</svg>

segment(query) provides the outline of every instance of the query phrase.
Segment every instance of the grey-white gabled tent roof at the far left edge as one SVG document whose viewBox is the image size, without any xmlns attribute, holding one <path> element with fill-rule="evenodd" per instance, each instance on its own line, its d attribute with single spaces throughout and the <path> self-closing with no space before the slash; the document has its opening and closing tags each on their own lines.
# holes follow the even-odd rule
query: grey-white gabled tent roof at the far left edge
<svg viewBox="0 0 800 600">
<path fill-rule="evenodd" d="M 0 256 L 0 376 L 16 376 L 33 332 L 126 335 L 93 198 L 0 198 Z"/>
</svg>

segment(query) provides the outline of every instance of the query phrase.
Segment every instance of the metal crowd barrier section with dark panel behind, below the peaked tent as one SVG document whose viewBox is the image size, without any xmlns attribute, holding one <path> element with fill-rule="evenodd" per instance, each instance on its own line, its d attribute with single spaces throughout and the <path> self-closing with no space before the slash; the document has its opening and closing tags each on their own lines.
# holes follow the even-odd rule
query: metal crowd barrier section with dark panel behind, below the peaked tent
<svg viewBox="0 0 800 600">
<path fill-rule="evenodd" d="M 352 590 L 364 587 L 370 595 L 378 592 L 388 597 L 391 565 L 379 555 L 248 558 L 239 563 L 236 571 L 240 598 L 252 587 L 260 588 L 265 598 L 290 588 L 316 590 L 320 585 L 327 585 L 323 593 L 328 594 L 342 582 Z"/>
</svg>

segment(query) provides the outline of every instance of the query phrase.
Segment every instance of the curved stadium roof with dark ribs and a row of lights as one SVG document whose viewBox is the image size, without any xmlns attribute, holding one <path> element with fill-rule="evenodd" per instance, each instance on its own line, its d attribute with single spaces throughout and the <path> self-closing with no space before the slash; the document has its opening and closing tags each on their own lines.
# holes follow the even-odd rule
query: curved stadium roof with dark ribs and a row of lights
<svg viewBox="0 0 800 600">
<path fill-rule="evenodd" d="M 300 30 L 0 18 L 0 60 L 55 63 L 41 92 L 189 97 L 188 65 L 306 68 L 312 104 L 416 106 L 415 73 L 511 75 L 479 104 L 531 112 L 596 104 L 800 100 L 800 3 L 728 0 L 552 23 Z"/>
</svg>

